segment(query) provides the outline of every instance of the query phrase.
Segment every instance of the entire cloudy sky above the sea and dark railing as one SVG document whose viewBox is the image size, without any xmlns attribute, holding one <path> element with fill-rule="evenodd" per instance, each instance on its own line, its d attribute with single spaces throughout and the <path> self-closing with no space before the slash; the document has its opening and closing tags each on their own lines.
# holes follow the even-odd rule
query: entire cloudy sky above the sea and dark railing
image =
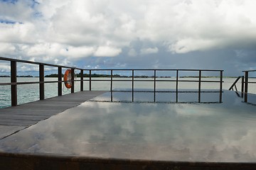
<svg viewBox="0 0 256 170">
<path fill-rule="evenodd" d="M 255 0 L 0 0 L 0 56 L 239 76 L 256 69 L 255 7 Z M 0 72 L 8 70 L 0 62 Z"/>
</svg>

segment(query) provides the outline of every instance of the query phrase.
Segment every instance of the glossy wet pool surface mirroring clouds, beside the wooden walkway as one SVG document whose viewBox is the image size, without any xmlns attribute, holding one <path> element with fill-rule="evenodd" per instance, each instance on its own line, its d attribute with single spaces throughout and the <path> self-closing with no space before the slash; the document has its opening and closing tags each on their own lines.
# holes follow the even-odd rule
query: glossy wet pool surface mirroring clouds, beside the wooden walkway
<svg viewBox="0 0 256 170">
<path fill-rule="evenodd" d="M 131 103 L 127 102 L 131 93 L 113 93 L 93 98 L 6 137 L 0 141 L 0 151 L 118 159 L 256 162 L 256 106 L 242 102 L 233 91 L 223 91 L 222 103 L 218 103 L 218 93 L 201 94 L 201 101 L 210 103 L 194 102 L 197 93 L 179 94 L 181 103 L 154 103 L 154 93 L 152 96 L 145 92 L 135 92 L 136 102 Z M 159 93 L 156 99 L 175 101 L 176 94 Z"/>
</svg>

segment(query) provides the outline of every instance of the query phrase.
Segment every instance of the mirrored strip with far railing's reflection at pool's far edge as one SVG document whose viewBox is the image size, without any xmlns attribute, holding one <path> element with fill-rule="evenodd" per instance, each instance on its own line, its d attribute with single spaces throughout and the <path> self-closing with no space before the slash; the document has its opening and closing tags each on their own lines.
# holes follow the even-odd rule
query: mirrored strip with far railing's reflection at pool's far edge
<svg viewBox="0 0 256 170">
<path fill-rule="evenodd" d="M 222 103 L 222 91 L 111 91 L 90 101 L 122 103 Z"/>
</svg>

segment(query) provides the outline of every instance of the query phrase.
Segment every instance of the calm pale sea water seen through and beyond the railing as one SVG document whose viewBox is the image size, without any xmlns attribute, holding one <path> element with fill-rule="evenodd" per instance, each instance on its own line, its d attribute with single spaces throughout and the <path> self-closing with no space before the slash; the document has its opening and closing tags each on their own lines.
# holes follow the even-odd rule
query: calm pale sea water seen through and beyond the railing
<svg viewBox="0 0 256 170">
<path fill-rule="evenodd" d="M 110 78 L 92 78 L 92 80 L 110 80 Z M 130 78 L 118 78 L 127 80 Z M 164 79 L 164 78 L 159 78 Z M 185 79 L 185 78 L 183 78 Z M 198 80 L 193 78 L 186 78 L 189 80 Z M 38 77 L 18 77 L 17 81 L 38 81 Z M 57 81 L 57 78 L 45 78 L 45 81 Z M 77 78 L 79 80 L 79 78 Z M 85 79 L 88 80 L 88 79 Z M 132 80 L 132 79 L 130 79 Z M 137 79 L 138 80 L 138 79 Z M 202 80 L 214 80 L 218 81 L 218 78 L 211 78 L 206 79 L 203 78 Z M 233 84 L 235 79 L 233 78 L 226 78 L 223 79 L 223 89 L 229 89 L 230 86 Z M 9 83 L 9 77 L 0 77 L 0 83 Z M 132 81 L 114 81 L 113 82 L 113 89 L 131 89 L 132 88 Z M 154 89 L 154 82 L 149 81 L 135 81 L 134 82 L 135 89 Z M 196 82 L 179 82 L 178 83 L 179 89 L 197 89 L 198 83 Z M 156 83 L 156 90 L 161 89 L 176 89 L 175 82 L 157 82 Z M 218 83 L 202 83 L 201 89 L 219 89 Z M 31 101 L 38 101 L 39 100 L 39 85 L 38 84 L 26 84 L 26 85 L 18 85 L 18 104 L 28 103 Z M 89 81 L 84 82 L 84 90 L 89 90 Z M 110 81 L 92 81 L 92 90 L 103 90 L 103 91 L 110 91 Z M 238 90 L 240 90 L 240 83 L 238 82 Z M 80 91 L 80 82 L 75 82 L 75 91 Z M 256 94 L 256 88 L 253 84 L 249 86 L 249 92 Z M 70 90 L 63 88 L 63 95 L 70 94 Z M 45 84 L 45 97 L 51 98 L 54 96 L 58 96 L 58 84 L 57 83 L 50 83 Z M 11 106 L 11 86 L 0 86 L 0 108 Z"/>
</svg>

